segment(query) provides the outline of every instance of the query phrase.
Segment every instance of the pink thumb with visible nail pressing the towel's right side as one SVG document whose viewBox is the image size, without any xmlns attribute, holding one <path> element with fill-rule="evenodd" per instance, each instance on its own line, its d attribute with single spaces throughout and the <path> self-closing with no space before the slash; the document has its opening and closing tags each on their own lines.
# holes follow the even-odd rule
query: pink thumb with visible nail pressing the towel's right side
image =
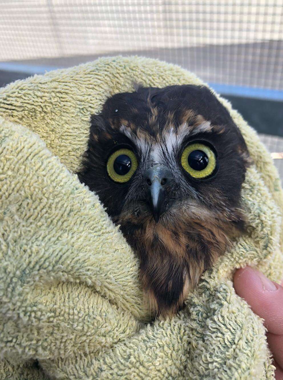
<svg viewBox="0 0 283 380">
<path fill-rule="evenodd" d="M 234 288 L 253 312 L 264 319 L 269 332 L 283 335 L 283 287 L 247 266 L 235 272 Z"/>
</svg>

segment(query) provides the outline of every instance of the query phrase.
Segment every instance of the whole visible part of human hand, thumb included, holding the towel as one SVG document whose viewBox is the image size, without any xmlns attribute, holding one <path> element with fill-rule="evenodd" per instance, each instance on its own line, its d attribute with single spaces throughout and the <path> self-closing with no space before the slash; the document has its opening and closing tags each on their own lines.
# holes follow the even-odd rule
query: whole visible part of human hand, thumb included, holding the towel
<svg viewBox="0 0 283 380">
<path fill-rule="evenodd" d="M 234 288 L 253 312 L 264 319 L 267 342 L 276 367 L 275 378 L 283 380 L 283 287 L 256 269 L 246 266 L 235 272 Z"/>
</svg>

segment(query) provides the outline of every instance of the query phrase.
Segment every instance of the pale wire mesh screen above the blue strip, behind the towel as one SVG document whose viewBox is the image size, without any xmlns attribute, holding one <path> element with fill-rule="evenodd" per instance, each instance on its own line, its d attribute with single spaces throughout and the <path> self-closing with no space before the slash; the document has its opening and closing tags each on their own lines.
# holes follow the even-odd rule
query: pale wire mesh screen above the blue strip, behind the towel
<svg viewBox="0 0 283 380">
<path fill-rule="evenodd" d="M 0 5 L 2 62 L 138 54 L 177 63 L 208 82 L 283 89 L 283 0 Z"/>
</svg>

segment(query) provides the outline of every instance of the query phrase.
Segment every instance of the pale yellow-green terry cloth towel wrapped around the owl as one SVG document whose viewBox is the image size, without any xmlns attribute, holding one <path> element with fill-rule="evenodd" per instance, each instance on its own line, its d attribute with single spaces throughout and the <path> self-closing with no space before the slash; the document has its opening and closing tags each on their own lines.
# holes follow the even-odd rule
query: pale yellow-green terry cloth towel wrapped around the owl
<svg viewBox="0 0 283 380">
<path fill-rule="evenodd" d="M 0 378 L 271 379 L 265 329 L 235 294 L 251 264 L 279 281 L 282 190 L 270 155 L 224 99 L 250 150 L 247 233 L 172 319 L 150 322 L 138 260 L 74 174 L 110 95 L 203 84 L 158 60 L 102 58 L 0 90 Z M 281 241 L 281 245 L 280 245 Z"/>
</svg>

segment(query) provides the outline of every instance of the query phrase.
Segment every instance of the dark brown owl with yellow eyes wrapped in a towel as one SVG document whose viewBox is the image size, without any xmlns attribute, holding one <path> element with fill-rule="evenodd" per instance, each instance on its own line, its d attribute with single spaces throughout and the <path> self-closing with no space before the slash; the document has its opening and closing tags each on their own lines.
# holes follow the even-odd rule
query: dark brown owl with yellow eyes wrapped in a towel
<svg viewBox="0 0 283 380">
<path fill-rule="evenodd" d="M 78 177 L 138 256 L 155 315 L 180 310 L 245 230 L 249 162 L 238 127 L 205 86 L 136 86 L 91 116 Z"/>
</svg>

